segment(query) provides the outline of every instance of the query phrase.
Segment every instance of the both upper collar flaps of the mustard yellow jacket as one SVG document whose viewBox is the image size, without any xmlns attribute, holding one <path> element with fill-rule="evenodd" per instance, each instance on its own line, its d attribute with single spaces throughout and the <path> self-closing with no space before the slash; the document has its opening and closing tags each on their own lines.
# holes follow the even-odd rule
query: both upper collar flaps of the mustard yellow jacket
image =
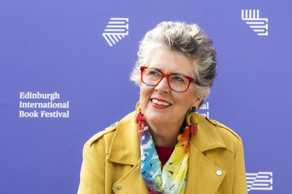
<svg viewBox="0 0 292 194">
<path fill-rule="evenodd" d="M 108 161 L 134 165 L 140 159 L 138 124 L 134 122 L 134 115 L 135 112 L 131 112 L 119 122 L 109 149 Z M 191 147 L 195 146 L 200 152 L 225 148 L 226 145 L 214 125 L 203 115 L 198 115 L 200 117 L 198 135 L 191 136 Z"/>
</svg>

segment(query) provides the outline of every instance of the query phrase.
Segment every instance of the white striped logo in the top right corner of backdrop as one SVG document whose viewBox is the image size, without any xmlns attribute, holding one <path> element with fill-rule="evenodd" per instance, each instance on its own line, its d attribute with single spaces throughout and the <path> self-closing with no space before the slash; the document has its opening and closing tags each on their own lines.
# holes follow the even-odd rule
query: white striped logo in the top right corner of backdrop
<svg viewBox="0 0 292 194">
<path fill-rule="evenodd" d="M 241 10 L 241 18 L 242 20 L 246 20 L 248 22 L 245 22 L 247 24 L 249 24 L 249 27 L 251 28 L 256 28 L 253 29 L 253 31 L 255 32 L 259 32 L 257 33 L 259 36 L 261 35 L 268 35 L 268 18 L 259 18 L 259 10 L 256 10 L 255 13 L 255 9 L 254 10 Z M 266 22 L 265 22 L 266 21 Z"/>
</svg>

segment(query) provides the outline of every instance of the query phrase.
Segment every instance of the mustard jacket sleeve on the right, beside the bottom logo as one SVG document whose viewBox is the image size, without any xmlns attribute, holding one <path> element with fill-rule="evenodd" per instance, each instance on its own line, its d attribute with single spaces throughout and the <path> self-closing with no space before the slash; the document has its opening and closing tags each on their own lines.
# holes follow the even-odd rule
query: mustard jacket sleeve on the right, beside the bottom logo
<svg viewBox="0 0 292 194">
<path fill-rule="evenodd" d="M 232 194 L 247 194 L 242 140 L 239 137 L 237 152 L 234 156 L 234 179 Z"/>
</svg>

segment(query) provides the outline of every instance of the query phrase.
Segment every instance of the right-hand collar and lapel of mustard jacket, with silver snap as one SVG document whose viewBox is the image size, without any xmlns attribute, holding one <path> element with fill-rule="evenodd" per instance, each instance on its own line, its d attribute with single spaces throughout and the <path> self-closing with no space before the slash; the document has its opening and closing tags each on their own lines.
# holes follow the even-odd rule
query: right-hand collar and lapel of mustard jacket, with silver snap
<svg viewBox="0 0 292 194">
<path fill-rule="evenodd" d="M 213 194 L 216 193 L 226 172 L 207 159 L 202 152 L 215 148 L 225 148 L 226 145 L 215 129 L 203 116 L 199 115 L 198 135 L 191 136 L 189 168 L 185 193 Z M 221 175 L 217 175 L 217 171 Z M 220 174 L 218 172 L 218 174 Z"/>
</svg>

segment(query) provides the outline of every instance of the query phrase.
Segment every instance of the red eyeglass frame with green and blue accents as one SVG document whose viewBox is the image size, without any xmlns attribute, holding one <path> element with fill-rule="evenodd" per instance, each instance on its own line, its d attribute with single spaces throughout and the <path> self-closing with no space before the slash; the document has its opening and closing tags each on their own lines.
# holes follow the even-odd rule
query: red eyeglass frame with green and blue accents
<svg viewBox="0 0 292 194">
<path fill-rule="evenodd" d="M 157 84 L 155 84 L 155 85 L 150 85 L 150 84 L 147 84 L 147 83 L 145 83 L 145 82 L 143 81 L 142 75 L 143 75 L 143 71 L 144 71 L 145 69 L 153 69 L 153 70 L 158 71 L 159 73 L 161 73 L 161 79 L 159 80 L 159 82 L 158 82 Z M 142 81 L 144 84 L 149 85 L 149 86 L 157 86 L 157 85 L 161 82 L 161 80 L 162 80 L 163 78 L 166 78 L 167 83 L 168 83 L 168 86 L 169 86 L 169 88 L 170 88 L 172 91 L 182 93 L 182 91 L 177 91 L 177 90 L 174 90 L 174 89 L 172 89 L 172 88 L 170 87 L 169 77 L 170 77 L 171 75 L 181 75 L 181 76 L 184 76 L 184 77 L 186 77 L 186 78 L 189 80 L 189 85 L 191 84 L 191 82 L 194 82 L 196 85 L 199 85 L 199 82 L 198 82 L 196 79 L 193 79 L 192 77 L 189 77 L 189 76 L 186 76 L 186 75 L 183 75 L 183 74 L 179 74 L 179 73 L 165 74 L 165 73 L 163 73 L 163 72 L 162 72 L 161 70 L 159 70 L 159 69 L 152 68 L 152 67 L 145 67 L 145 66 L 141 66 L 141 67 L 140 67 L 140 70 L 141 70 L 141 81 Z M 186 92 L 186 91 L 189 89 L 189 85 L 188 85 L 188 87 L 186 88 L 186 90 L 183 91 L 183 92 Z"/>
</svg>

